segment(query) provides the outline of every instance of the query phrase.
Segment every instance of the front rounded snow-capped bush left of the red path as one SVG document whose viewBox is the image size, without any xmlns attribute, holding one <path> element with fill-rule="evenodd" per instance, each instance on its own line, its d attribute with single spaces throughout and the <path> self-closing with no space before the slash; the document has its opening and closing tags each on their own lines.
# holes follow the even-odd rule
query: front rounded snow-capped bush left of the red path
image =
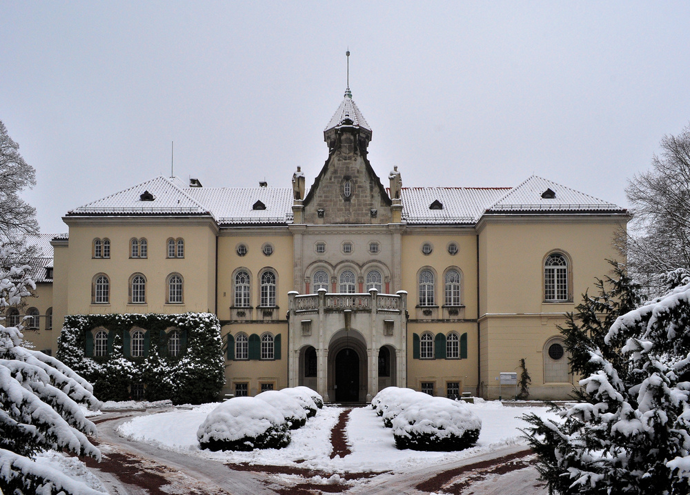
<svg viewBox="0 0 690 495">
<path fill-rule="evenodd" d="M 285 417 L 256 397 L 235 397 L 208 413 L 197 430 L 202 449 L 281 449 L 290 443 Z"/>
</svg>

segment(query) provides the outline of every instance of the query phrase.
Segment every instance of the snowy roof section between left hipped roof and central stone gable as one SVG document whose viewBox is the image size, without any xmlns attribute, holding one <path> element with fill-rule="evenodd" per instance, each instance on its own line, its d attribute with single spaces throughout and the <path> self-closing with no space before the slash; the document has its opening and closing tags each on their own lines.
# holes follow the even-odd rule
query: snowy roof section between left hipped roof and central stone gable
<svg viewBox="0 0 690 495">
<path fill-rule="evenodd" d="M 293 218 L 292 188 L 189 188 L 220 224 L 288 223 Z M 261 201 L 265 210 L 254 210 Z"/>
</svg>

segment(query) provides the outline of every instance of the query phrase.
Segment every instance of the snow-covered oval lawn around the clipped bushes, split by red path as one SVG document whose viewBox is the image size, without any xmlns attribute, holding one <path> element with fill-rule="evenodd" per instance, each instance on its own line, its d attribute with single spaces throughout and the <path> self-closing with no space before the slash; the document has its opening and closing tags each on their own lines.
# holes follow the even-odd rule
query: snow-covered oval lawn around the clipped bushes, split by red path
<svg viewBox="0 0 690 495">
<path fill-rule="evenodd" d="M 210 403 L 139 416 L 122 424 L 119 433 L 131 440 L 156 443 L 165 449 L 224 463 L 288 465 L 325 472 L 380 472 L 389 469 L 404 471 L 440 461 L 447 463 L 491 452 L 505 445 L 522 444 L 524 440 L 520 438 L 519 429 L 526 423 L 519 416 L 534 412 L 539 416 L 555 417 L 546 407 L 504 407 L 499 402 L 479 401 L 469 405 L 482 419 L 482 432 L 475 447 L 460 452 L 416 452 L 398 450 L 391 428 L 384 427 L 382 419 L 371 407 L 359 407 L 351 411 L 346 427 L 352 454 L 331 459 L 331 429 L 342 412 L 340 407 L 319 410 L 304 427 L 290 432 L 292 441 L 284 449 L 209 452 L 199 449 L 197 429 L 217 406 L 217 403 Z"/>
</svg>

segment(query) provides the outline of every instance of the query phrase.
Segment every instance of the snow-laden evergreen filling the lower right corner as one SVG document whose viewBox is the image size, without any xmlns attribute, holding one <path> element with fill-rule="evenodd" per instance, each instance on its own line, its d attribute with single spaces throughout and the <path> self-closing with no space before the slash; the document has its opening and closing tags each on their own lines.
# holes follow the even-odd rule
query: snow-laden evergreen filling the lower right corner
<svg viewBox="0 0 690 495">
<path fill-rule="evenodd" d="M 585 402 L 562 421 L 524 416 L 549 492 L 689 493 L 690 285 L 619 316 L 602 345 L 589 345 Z"/>
</svg>

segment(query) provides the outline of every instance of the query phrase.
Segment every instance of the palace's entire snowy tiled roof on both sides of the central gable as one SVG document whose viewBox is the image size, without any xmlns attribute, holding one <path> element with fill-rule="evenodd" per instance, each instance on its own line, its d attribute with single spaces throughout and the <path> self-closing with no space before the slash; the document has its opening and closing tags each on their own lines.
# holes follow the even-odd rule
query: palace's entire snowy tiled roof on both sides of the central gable
<svg viewBox="0 0 690 495">
<path fill-rule="evenodd" d="M 553 197 L 542 197 L 547 190 Z M 141 201 L 145 191 L 155 199 Z M 402 219 L 409 225 L 474 225 L 485 214 L 626 212 L 539 176 L 515 188 L 402 188 L 401 199 Z M 265 208 L 255 210 L 257 201 Z M 430 208 L 435 201 L 441 208 Z M 292 205 L 292 188 L 190 188 L 180 179 L 159 176 L 68 215 L 208 215 L 221 226 L 287 225 L 293 221 Z"/>
</svg>

